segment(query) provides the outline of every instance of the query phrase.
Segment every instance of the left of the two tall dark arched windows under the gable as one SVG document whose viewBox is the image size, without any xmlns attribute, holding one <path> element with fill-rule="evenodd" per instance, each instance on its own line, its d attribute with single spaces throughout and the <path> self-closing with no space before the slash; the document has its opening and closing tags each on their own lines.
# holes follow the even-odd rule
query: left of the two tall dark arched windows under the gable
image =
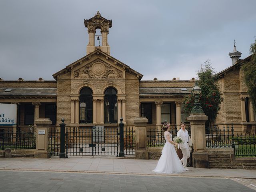
<svg viewBox="0 0 256 192">
<path fill-rule="evenodd" d="M 92 123 L 92 90 L 82 88 L 79 98 L 79 122 Z"/>
</svg>

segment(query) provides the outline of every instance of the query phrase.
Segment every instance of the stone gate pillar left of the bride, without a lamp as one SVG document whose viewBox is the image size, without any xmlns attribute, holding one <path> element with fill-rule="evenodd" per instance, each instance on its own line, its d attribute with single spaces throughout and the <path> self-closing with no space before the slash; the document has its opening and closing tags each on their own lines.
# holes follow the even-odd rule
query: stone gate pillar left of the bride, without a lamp
<svg viewBox="0 0 256 192">
<path fill-rule="evenodd" d="M 148 119 L 146 117 L 136 117 L 134 119 L 135 125 L 135 158 L 148 159 L 148 142 L 146 126 Z"/>
</svg>

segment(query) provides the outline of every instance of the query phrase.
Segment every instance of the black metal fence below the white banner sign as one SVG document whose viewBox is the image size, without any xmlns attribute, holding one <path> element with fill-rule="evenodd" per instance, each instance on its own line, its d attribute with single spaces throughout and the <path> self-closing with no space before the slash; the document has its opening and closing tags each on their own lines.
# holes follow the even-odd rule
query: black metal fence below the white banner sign
<svg viewBox="0 0 256 192">
<path fill-rule="evenodd" d="M 0 150 L 11 149 L 35 149 L 36 133 L 34 127 L 26 128 L 0 127 Z"/>
</svg>

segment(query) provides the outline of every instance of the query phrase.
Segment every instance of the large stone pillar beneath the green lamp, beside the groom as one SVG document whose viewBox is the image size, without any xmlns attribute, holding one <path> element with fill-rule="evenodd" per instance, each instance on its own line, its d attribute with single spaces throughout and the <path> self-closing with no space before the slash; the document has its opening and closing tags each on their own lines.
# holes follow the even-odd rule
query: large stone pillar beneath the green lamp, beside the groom
<svg viewBox="0 0 256 192">
<path fill-rule="evenodd" d="M 193 144 L 192 162 L 195 168 L 209 168 L 208 153 L 206 152 L 205 122 L 208 117 L 204 113 L 190 114 L 188 121 L 191 127 Z"/>
</svg>

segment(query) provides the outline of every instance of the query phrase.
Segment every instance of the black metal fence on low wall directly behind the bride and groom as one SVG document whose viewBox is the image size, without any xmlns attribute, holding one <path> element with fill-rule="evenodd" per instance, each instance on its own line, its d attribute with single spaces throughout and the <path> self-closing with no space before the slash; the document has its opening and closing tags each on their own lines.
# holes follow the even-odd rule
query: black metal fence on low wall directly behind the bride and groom
<svg viewBox="0 0 256 192">
<path fill-rule="evenodd" d="M 190 126 L 186 125 L 186 130 L 188 130 L 189 136 L 191 135 Z M 172 138 L 177 136 L 177 126 L 171 125 L 169 132 L 172 134 Z M 147 141 L 149 147 L 159 147 L 164 146 L 164 131 L 162 130 L 162 126 L 148 126 L 147 127 Z"/>
</svg>

